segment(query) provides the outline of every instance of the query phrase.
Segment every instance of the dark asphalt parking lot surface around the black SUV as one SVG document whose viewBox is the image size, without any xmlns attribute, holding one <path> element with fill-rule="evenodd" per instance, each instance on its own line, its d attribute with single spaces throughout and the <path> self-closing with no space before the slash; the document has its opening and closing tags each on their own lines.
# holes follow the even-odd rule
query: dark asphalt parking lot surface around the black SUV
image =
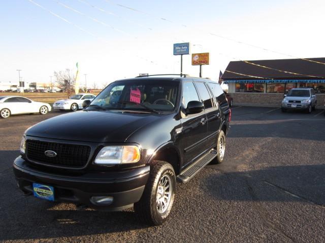
<svg viewBox="0 0 325 243">
<path fill-rule="evenodd" d="M 58 115 L 0 119 L 0 241 L 325 242 L 325 116 L 233 108 L 222 165 L 177 184 L 169 221 L 133 210 L 76 210 L 25 197 L 11 169 L 26 128 Z"/>
</svg>

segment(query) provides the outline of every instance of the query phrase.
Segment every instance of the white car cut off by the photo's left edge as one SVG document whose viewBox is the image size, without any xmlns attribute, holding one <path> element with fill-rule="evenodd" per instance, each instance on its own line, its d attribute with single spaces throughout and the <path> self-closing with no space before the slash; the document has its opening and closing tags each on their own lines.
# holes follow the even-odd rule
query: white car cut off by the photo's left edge
<svg viewBox="0 0 325 243">
<path fill-rule="evenodd" d="M 10 115 L 39 112 L 42 115 L 51 111 L 47 103 L 32 101 L 21 96 L 0 96 L 0 117 L 8 118 Z"/>
</svg>

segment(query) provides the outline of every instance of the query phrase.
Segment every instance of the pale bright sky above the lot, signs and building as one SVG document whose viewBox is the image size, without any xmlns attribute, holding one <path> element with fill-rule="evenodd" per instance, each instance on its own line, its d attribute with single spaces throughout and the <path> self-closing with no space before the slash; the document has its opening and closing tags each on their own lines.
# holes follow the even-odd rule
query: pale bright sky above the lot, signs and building
<svg viewBox="0 0 325 243">
<path fill-rule="evenodd" d="M 190 43 L 191 53 L 210 53 L 203 76 L 212 79 L 230 61 L 325 57 L 323 0 L 1 0 L 0 4 L 2 84 L 18 84 L 17 69 L 27 84 L 49 83 L 54 71 L 76 72 L 76 62 L 80 83 L 84 85 L 87 74 L 88 88 L 139 73 L 179 73 L 180 57 L 173 56 L 173 44 L 182 42 Z M 199 76 L 190 55 L 183 56 L 183 72 Z"/>
</svg>

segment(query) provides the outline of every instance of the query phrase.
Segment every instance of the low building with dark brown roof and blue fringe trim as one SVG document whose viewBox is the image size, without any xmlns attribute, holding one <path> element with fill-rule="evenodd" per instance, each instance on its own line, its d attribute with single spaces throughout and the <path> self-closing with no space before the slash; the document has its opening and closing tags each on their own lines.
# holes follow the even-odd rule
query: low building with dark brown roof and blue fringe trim
<svg viewBox="0 0 325 243">
<path fill-rule="evenodd" d="M 280 106 L 293 88 L 313 88 L 317 106 L 325 99 L 325 58 L 233 61 L 222 77 L 236 105 Z"/>
</svg>

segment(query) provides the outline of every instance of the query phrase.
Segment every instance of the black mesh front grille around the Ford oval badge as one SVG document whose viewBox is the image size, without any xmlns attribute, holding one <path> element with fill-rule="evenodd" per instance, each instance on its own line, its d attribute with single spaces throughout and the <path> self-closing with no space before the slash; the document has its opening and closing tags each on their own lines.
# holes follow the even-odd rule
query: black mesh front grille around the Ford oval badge
<svg viewBox="0 0 325 243">
<path fill-rule="evenodd" d="M 45 151 L 56 153 L 55 157 L 45 155 Z M 84 167 L 87 164 L 90 147 L 87 145 L 52 143 L 27 140 L 26 155 L 37 163 L 62 167 Z"/>
</svg>

